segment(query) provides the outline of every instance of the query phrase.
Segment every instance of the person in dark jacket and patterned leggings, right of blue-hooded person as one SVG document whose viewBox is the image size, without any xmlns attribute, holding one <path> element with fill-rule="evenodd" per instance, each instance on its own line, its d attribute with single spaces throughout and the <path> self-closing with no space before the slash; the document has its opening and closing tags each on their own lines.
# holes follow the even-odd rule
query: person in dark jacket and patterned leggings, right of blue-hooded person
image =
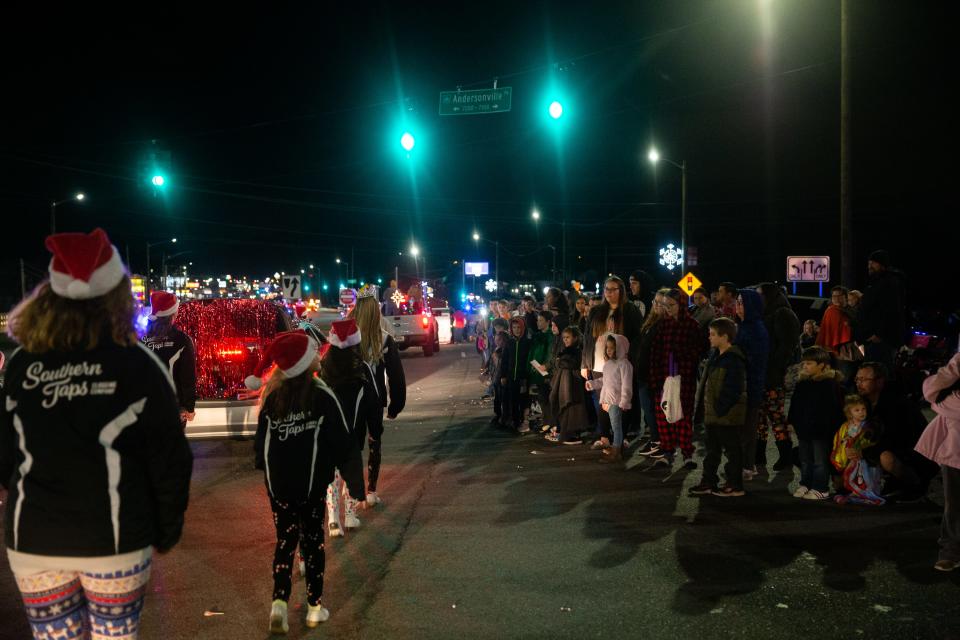
<svg viewBox="0 0 960 640">
<path fill-rule="evenodd" d="M 767 358 L 766 397 L 760 410 L 758 434 L 763 443 L 762 450 L 765 451 L 767 430 L 773 431 L 780 453 L 777 466 L 784 468 L 783 465 L 788 464 L 792 452 L 790 432 L 784 415 L 784 380 L 787 367 L 797 361 L 802 329 L 797 314 L 790 308 L 786 294 L 778 285 L 765 282 L 760 285 L 759 290 L 763 298 L 763 323 L 770 336 L 770 355 Z"/>
</svg>

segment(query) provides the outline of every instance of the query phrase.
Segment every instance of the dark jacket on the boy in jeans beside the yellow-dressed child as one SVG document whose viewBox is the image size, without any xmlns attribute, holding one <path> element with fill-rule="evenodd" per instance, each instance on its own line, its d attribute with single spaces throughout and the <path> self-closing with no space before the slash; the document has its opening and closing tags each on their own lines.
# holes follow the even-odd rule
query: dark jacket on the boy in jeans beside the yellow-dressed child
<svg viewBox="0 0 960 640">
<path fill-rule="evenodd" d="M 830 367 L 815 376 L 801 372 L 787 415 L 797 437 L 832 442 L 844 420 L 843 374 Z"/>
</svg>

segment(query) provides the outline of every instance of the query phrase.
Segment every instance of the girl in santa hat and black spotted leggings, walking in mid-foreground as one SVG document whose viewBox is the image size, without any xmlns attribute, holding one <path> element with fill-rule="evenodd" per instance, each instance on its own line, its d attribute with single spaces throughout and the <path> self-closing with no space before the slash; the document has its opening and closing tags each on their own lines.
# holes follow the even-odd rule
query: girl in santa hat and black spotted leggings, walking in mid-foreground
<svg viewBox="0 0 960 640">
<path fill-rule="evenodd" d="M 324 489 L 342 473 L 355 500 L 363 499 L 363 462 L 336 392 L 314 374 L 320 368 L 318 343 L 301 331 L 279 334 L 267 348 L 255 375 L 276 365 L 260 396 L 254 441 L 256 466 L 263 469 L 277 530 L 273 558 L 271 633 L 286 633 L 294 551 L 306 560 L 308 627 L 330 617 L 321 604 L 325 554 Z M 352 408 L 352 405 L 351 405 Z"/>
</svg>

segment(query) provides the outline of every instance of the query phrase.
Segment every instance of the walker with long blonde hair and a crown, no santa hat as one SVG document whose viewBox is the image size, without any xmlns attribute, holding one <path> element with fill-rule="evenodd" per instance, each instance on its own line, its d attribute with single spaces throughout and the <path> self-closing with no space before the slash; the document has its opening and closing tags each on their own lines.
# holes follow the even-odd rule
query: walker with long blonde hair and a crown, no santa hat
<svg viewBox="0 0 960 640">
<path fill-rule="evenodd" d="M 367 454 L 367 506 L 380 503 L 377 481 L 380 477 L 380 448 L 383 441 L 383 409 L 387 418 L 396 418 L 407 402 L 407 381 L 400 362 L 397 341 L 383 326 L 383 316 L 377 303 L 375 289 L 361 290 L 350 316 L 360 330 L 360 357 L 370 369 L 380 397 L 380 420 L 374 421 L 367 434 L 370 452 Z M 387 390 L 390 399 L 387 401 Z"/>
</svg>

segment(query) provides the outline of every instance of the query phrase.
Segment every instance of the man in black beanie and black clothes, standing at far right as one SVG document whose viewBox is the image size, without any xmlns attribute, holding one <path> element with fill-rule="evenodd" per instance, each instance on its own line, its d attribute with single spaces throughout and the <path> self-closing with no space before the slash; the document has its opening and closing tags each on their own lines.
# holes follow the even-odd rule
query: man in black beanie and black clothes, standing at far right
<svg viewBox="0 0 960 640">
<path fill-rule="evenodd" d="M 854 337 L 863 345 L 865 360 L 880 362 L 893 372 L 905 332 L 903 273 L 890 268 L 890 254 L 882 249 L 870 254 L 867 272 L 870 286 L 860 302 Z"/>
</svg>

